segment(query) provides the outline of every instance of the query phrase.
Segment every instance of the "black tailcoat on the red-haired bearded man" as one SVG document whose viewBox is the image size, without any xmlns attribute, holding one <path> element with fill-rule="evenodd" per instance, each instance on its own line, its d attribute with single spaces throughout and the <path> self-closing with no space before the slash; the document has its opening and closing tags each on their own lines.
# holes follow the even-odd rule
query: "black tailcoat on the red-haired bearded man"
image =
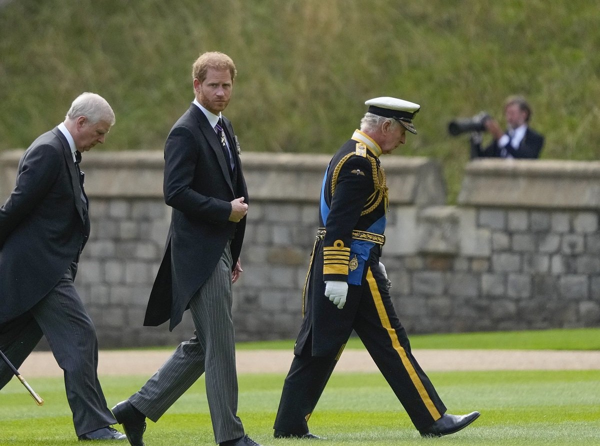
<svg viewBox="0 0 600 446">
<path fill-rule="evenodd" d="M 228 119 L 224 132 L 234 150 L 235 170 L 230 177 L 214 128 L 205 114 L 191 104 L 171 129 L 164 146 L 164 200 L 173 208 L 166 249 L 146 309 L 145 326 L 170 319 L 173 330 L 191 297 L 217 266 L 231 240 L 233 265 L 241 251 L 246 218 L 229 221 L 230 202 L 248 191 Z"/>
</svg>

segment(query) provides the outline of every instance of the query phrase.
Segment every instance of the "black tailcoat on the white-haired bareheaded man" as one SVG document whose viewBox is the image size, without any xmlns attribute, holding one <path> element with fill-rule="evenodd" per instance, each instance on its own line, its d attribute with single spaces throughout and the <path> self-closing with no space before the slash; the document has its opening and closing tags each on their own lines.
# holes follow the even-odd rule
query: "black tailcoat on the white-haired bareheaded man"
<svg viewBox="0 0 600 446">
<path fill-rule="evenodd" d="M 62 132 L 57 127 L 38 137 L 0 207 L 0 324 L 38 303 L 79 258 L 89 236 L 81 193 Z"/>
</svg>

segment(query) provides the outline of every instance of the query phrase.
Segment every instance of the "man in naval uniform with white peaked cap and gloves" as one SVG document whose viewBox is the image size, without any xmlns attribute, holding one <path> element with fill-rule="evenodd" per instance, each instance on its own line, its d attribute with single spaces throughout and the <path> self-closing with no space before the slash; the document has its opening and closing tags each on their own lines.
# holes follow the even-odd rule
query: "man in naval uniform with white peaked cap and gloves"
<svg viewBox="0 0 600 446">
<path fill-rule="evenodd" d="M 420 106 L 396 98 L 365 103 L 368 112 L 326 170 L 307 283 L 304 320 L 283 385 L 275 438 L 319 438 L 308 430 L 312 414 L 352 330 L 385 376 L 422 436 L 468 426 L 479 412 L 446 414 L 446 406 L 410 350 L 379 263 L 388 188 L 379 157 L 416 134 Z"/>
</svg>

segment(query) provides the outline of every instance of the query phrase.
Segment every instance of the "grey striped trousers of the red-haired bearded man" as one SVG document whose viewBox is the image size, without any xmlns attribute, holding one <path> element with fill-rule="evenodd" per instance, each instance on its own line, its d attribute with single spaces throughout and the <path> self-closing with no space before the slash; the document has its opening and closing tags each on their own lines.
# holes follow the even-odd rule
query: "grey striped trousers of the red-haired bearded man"
<svg viewBox="0 0 600 446">
<path fill-rule="evenodd" d="M 244 436 L 238 412 L 238 377 L 232 320 L 229 245 L 211 276 L 190 300 L 195 336 L 179 344 L 129 402 L 156 422 L 206 373 L 206 397 L 217 443 Z"/>
</svg>

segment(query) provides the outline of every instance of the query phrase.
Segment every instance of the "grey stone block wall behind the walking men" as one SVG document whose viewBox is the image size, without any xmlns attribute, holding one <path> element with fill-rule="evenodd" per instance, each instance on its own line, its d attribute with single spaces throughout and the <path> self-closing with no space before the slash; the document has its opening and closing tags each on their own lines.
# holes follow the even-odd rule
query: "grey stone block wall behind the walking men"
<svg viewBox="0 0 600 446">
<path fill-rule="evenodd" d="M 0 199 L 22 152 L 0 156 Z M 244 274 L 234 285 L 239 340 L 288 339 L 318 224 L 329 156 L 244 153 L 250 191 Z M 544 329 L 600 323 L 600 162 L 478 160 L 457 206 L 440 166 L 386 156 L 390 188 L 382 261 L 410 333 Z M 161 152 L 91 152 L 82 162 L 92 236 L 77 288 L 103 348 L 163 345 L 192 334 L 142 327 L 170 209 Z"/>
</svg>

